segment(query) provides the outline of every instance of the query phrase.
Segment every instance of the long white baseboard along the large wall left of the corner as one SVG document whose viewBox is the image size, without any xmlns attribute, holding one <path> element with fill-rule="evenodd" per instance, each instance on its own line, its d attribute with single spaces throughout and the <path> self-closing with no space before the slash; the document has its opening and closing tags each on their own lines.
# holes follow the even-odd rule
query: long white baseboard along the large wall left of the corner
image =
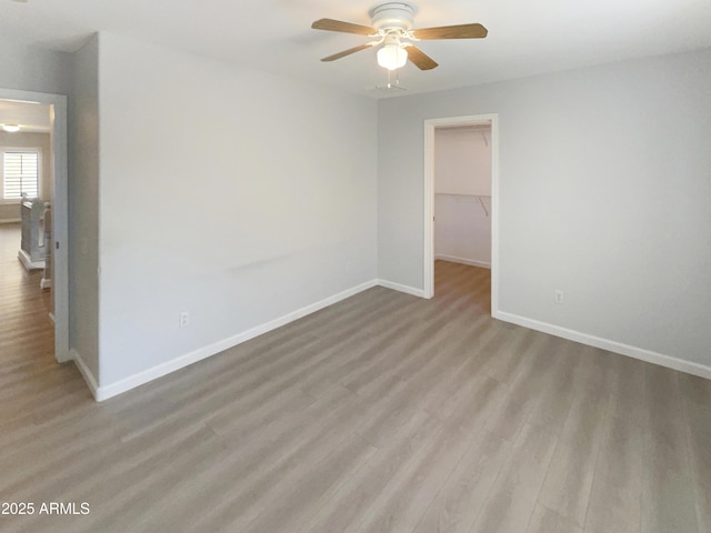
<svg viewBox="0 0 711 533">
<path fill-rule="evenodd" d="M 266 324 L 258 325 L 250 330 L 247 330 L 242 333 L 238 333 L 237 335 L 230 336 L 228 339 L 223 339 L 208 346 L 200 348 L 192 352 L 186 353 L 184 355 L 180 355 L 176 359 L 167 361 L 164 363 L 158 364 L 151 369 L 144 370 L 142 372 L 138 372 L 133 375 L 119 380 L 114 383 L 110 383 L 108 385 L 99 385 L 96 389 L 92 386 L 92 382 L 89 381 L 87 375 L 91 376 L 91 373 L 84 374 L 82 371 L 82 375 L 87 380 L 87 384 L 90 389 L 92 389 L 93 395 L 97 402 L 101 402 L 103 400 L 108 400 L 109 398 L 116 396 L 117 394 L 121 394 L 122 392 L 130 391 L 139 385 L 148 383 L 149 381 L 153 381 L 158 378 L 162 378 L 166 374 L 180 370 L 190 364 L 197 363 L 203 359 L 207 359 L 211 355 L 216 355 L 224 350 L 229 350 L 230 348 L 237 346 L 242 342 L 247 342 L 256 336 L 268 333 L 277 328 L 281 328 L 294 320 L 299 320 L 308 314 L 320 311 L 321 309 L 328 308 L 329 305 L 333 305 L 334 303 L 340 302 L 341 300 L 346 300 L 359 292 L 362 292 L 367 289 L 378 285 L 377 280 L 371 280 L 369 282 L 362 283 L 358 286 L 348 289 L 346 291 L 339 292 L 332 296 L 329 296 L 320 302 L 313 303 L 311 305 L 307 305 L 306 308 L 298 309 L 291 313 L 284 314 L 278 319 L 274 319 Z M 78 364 L 79 366 L 79 364 Z M 86 365 L 84 365 L 86 368 Z M 80 368 L 81 371 L 81 368 Z M 93 381 L 96 384 L 96 380 Z"/>
</svg>

